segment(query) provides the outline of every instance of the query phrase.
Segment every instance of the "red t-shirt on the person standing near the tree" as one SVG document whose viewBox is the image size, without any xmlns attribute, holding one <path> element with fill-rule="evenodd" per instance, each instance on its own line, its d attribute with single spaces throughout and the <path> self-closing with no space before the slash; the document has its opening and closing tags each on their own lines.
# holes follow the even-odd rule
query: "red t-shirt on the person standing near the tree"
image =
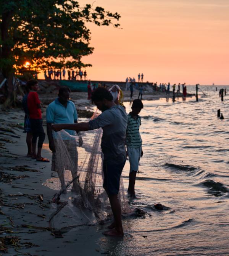
<svg viewBox="0 0 229 256">
<path fill-rule="evenodd" d="M 29 92 L 27 105 L 29 109 L 29 117 L 32 119 L 41 119 L 41 109 L 37 108 L 37 104 L 40 104 L 37 92 Z"/>
</svg>

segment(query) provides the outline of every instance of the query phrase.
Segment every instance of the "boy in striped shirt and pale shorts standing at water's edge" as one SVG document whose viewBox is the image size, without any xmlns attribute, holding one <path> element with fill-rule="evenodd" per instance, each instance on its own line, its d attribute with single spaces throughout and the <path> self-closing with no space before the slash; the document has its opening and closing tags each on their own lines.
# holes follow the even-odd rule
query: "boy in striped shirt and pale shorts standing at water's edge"
<svg viewBox="0 0 229 256">
<path fill-rule="evenodd" d="M 142 101 L 134 100 L 131 108 L 132 111 L 127 115 L 126 149 L 130 162 L 128 193 L 134 198 L 136 174 L 139 169 L 140 157 L 143 155 L 142 138 L 139 133 L 141 117 L 138 115 L 143 108 Z"/>
</svg>

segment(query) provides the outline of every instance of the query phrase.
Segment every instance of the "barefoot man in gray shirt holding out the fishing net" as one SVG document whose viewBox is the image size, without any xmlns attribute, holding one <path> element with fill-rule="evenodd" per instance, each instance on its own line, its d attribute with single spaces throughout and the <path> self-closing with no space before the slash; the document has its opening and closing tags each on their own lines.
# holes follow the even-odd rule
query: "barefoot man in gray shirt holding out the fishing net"
<svg viewBox="0 0 229 256">
<path fill-rule="evenodd" d="M 121 219 L 121 206 L 118 199 L 119 181 L 126 162 L 125 136 L 127 115 L 124 108 L 113 102 L 111 93 L 103 87 L 99 87 L 92 94 L 92 102 L 102 111 L 94 120 L 75 124 L 54 124 L 53 130 L 62 129 L 75 131 L 89 131 L 102 127 L 103 136 L 101 148 L 104 154 L 103 187 L 108 194 L 111 210 L 114 215 L 114 223 L 103 234 L 108 236 L 123 236 Z"/>
</svg>

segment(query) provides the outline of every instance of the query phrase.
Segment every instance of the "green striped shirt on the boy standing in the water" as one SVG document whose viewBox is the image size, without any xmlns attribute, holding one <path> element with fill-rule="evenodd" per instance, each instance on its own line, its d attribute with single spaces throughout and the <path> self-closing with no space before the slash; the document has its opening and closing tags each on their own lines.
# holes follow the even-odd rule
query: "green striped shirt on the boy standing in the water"
<svg viewBox="0 0 229 256">
<path fill-rule="evenodd" d="M 139 133 L 141 125 L 141 117 L 138 115 L 137 119 L 130 114 L 127 115 L 127 129 L 126 129 L 126 145 L 131 148 L 139 148 L 142 146 L 142 138 Z"/>
</svg>

